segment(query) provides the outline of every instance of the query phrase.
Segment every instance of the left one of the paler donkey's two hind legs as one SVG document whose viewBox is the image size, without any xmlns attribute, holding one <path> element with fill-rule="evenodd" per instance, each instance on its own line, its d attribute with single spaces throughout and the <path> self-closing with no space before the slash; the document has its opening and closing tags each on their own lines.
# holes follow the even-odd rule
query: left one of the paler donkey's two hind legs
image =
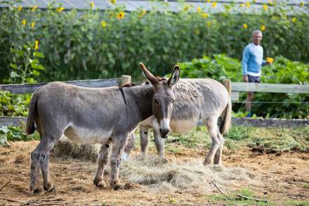
<svg viewBox="0 0 309 206">
<path fill-rule="evenodd" d="M 204 165 L 209 165 L 213 162 L 213 157 L 220 146 L 220 140 L 218 139 L 218 126 L 217 120 L 215 118 L 209 118 L 206 122 L 206 127 L 211 136 L 211 147 L 209 149 L 209 153 L 206 155 L 204 160 Z"/>
</svg>

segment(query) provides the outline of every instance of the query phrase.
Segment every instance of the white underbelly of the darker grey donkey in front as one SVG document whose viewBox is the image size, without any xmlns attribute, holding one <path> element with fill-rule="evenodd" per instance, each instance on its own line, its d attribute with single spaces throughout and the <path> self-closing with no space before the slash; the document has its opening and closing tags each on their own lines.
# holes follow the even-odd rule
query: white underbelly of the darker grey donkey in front
<svg viewBox="0 0 309 206">
<path fill-rule="evenodd" d="M 112 136 L 112 129 L 91 129 L 82 127 L 69 127 L 65 130 L 65 136 L 79 143 L 102 143 Z"/>
</svg>

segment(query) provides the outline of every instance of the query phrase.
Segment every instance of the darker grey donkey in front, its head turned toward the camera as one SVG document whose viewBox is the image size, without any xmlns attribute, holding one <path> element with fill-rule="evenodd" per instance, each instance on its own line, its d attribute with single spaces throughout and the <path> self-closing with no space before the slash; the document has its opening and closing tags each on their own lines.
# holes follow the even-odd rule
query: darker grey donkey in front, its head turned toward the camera
<svg viewBox="0 0 309 206">
<path fill-rule="evenodd" d="M 160 135 L 169 134 L 169 118 L 175 99 L 172 87 L 180 76 L 178 65 L 173 67 L 172 75 L 166 81 L 159 81 L 143 63 L 140 67 L 152 85 L 85 88 L 52 82 L 34 91 L 26 132 L 32 134 L 35 123 L 41 141 L 31 153 L 30 191 L 42 191 L 39 169 L 44 191 L 55 191 L 49 176 L 49 153 L 63 134 L 80 143 L 100 143 L 93 184 L 105 187 L 103 174 L 110 159 L 110 186 L 114 190 L 123 188 L 119 182 L 119 165 L 128 136 L 152 115 L 159 122 Z"/>
</svg>

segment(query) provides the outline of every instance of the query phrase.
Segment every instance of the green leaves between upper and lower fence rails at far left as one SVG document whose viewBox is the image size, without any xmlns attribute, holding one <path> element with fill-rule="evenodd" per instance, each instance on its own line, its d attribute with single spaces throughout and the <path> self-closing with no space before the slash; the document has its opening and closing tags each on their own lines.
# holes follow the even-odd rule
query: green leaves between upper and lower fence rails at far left
<svg viewBox="0 0 309 206">
<path fill-rule="evenodd" d="M 0 91 L 0 116 L 27 117 L 32 94 L 11 94 Z"/>
</svg>

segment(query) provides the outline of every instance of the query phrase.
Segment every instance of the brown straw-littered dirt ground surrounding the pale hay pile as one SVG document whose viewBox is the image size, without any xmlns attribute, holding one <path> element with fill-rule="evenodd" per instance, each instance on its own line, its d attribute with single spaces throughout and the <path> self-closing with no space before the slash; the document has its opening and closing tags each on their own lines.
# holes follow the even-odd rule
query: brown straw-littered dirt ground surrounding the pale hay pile
<svg viewBox="0 0 309 206">
<path fill-rule="evenodd" d="M 93 186 L 96 163 L 82 160 L 63 160 L 51 157 L 51 179 L 56 192 L 29 193 L 30 153 L 38 141 L 15 142 L 11 147 L 0 147 L 0 205 L 227 205 L 213 202 L 211 195 L 220 194 L 214 186 L 209 193 L 200 191 L 149 193 L 145 186 L 130 184 L 131 188 L 112 191 Z M 150 150 L 150 153 L 155 153 Z M 166 157 L 185 162 L 204 157 L 206 151 L 187 149 L 185 153 Z M 133 155 L 137 155 L 134 150 Z M 236 151 L 225 150 L 225 167 L 243 167 L 255 176 L 254 181 L 237 181 L 221 187 L 224 193 L 250 188 L 259 198 L 275 205 L 287 205 L 288 200 L 309 200 L 309 153 L 264 154 L 243 147 Z M 108 182 L 107 179 L 105 179 Z M 121 179 L 123 184 L 126 180 Z"/>
</svg>

